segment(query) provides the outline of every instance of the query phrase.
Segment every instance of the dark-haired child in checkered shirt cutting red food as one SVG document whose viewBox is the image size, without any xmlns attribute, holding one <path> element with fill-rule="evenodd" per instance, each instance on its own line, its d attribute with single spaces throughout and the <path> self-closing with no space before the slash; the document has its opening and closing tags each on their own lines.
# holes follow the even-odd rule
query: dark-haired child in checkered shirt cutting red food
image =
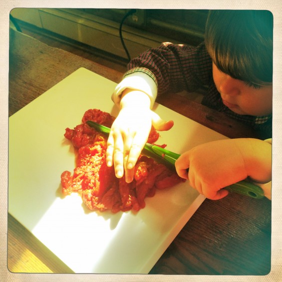
<svg viewBox="0 0 282 282">
<path fill-rule="evenodd" d="M 273 16 L 266 10 L 212 10 L 205 42 L 197 47 L 163 43 L 131 60 L 112 95 L 120 106 L 108 138 L 107 165 L 133 180 L 134 166 L 151 126 L 169 130 L 151 111 L 164 92 L 208 86 L 202 103 L 272 135 Z M 189 130 L 189 129 L 188 129 Z M 266 138 L 264 137 L 264 138 Z M 179 176 L 209 199 L 228 194 L 228 185 L 249 178 L 271 183 L 271 141 L 227 139 L 196 146 L 176 162 Z M 189 168 L 189 173 L 187 173 Z M 271 185 L 265 185 L 271 198 Z"/>
</svg>

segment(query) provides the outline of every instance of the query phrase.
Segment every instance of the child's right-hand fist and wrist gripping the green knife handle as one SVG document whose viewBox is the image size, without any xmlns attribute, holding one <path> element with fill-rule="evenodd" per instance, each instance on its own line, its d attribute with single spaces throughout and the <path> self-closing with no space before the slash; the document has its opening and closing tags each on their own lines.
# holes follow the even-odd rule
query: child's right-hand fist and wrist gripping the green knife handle
<svg viewBox="0 0 282 282">
<path fill-rule="evenodd" d="M 196 146 L 182 154 L 175 166 L 180 177 L 208 199 L 228 195 L 228 185 L 250 177 L 258 183 L 271 180 L 271 144 L 251 138 L 226 139 Z M 189 168 L 187 173 L 186 169 Z"/>
</svg>

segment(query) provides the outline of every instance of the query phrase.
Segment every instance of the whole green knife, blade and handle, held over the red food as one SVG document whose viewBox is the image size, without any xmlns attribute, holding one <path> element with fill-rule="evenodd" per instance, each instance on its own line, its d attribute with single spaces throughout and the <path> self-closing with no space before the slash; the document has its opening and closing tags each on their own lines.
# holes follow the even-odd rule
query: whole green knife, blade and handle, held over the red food
<svg viewBox="0 0 282 282">
<path fill-rule="evenodd" d="M 98 124 L 91 120 L 86 121 L 86 123 L 89 126 L 98 130 L 99 132 L 103 132 L 105 134 L 110 133 L 111 129 L 104 125 Z M 166 150 L 164 148 L 149 143 L 145 144 L 142 153 L 144 155 L 147 155 L 148 157 L 154 158 L 158 162 L 165 164 L 170 169 L 175 169 L 175 162 L 180 157 L 180 154 L 171 152 L 169 150 Z M 254 199 L 262 199 L 265 196 L 265 193 L 261 187 L 246 180 L 242 180 L 235 184 L 227 186 L 225 187 L 225 189 L 227 189 L 230 192 L 235 192 L 238 194 L 252 197 Z"/>
</svg>

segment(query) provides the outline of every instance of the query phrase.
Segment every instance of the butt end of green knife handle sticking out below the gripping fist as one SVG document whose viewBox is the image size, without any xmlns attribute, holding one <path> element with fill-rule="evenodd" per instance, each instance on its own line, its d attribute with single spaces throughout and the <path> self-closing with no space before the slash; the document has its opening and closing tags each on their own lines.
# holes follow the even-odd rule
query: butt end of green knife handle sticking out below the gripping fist
<svg viewBox="0 0 282 282">
<path fill-rule="evenodd" d="M 255 199 L 262 199 L 265 197 L 264 190 L 261 187 L 245 180 L 229 185 L 225 187 L 225 189 Z"/>
</svg>

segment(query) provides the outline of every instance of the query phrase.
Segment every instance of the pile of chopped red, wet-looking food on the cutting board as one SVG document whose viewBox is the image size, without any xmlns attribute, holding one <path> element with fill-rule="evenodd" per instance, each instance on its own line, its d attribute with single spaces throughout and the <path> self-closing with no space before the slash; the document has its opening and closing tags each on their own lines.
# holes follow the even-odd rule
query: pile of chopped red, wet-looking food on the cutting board
<svg viewBox="0 0 282 282">
<path fill-rule="evenodd" d="M 64 137 L 75 148 L 76 167 L 73 174 L 69 171 L 61 174 L 63 195 L 78 193 L 86 207 L 93 211 L 139 211 L 145 207 L 145 198 L 153 197 L 156 189 L 169 188 L 182 181 L 163 164 L 142 155 L 131 183 L 126 183 L 124 177 L 116 178 L 114 168 L 106 165 L 107 137 L 88 126 L 87 120 L 111 127 L 114 117 L 98 109 L 89 109 L 81 124 L 65 129 Z M 153 144 L 158 138 L 159 133 L 152 128 L 148 142 Z"/>
</svg>

